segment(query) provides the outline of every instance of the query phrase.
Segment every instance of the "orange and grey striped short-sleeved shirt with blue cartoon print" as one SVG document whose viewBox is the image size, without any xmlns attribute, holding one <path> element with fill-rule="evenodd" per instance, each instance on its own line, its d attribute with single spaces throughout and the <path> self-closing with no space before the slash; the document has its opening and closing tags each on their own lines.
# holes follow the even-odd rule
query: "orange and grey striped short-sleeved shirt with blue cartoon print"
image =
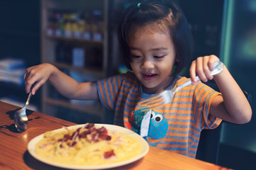
<svg viewBox="0 0 256 170">
<path fill-rule="evenodd" d="M 176 76 L 167 89 L 188 80 Z M 156 94 L 144 94 L 132 72 L 97 81 L 97 90 L 103 105 L 114 110 L 114 124 L 139 133 L 147 112 L 139 102 Z M 149 145 L 195 158 L 201 130 L 217 128 L 221 123 L 221 119 L 208 114 L 210 103 L 217 95 L 221 94 L 200 81 L 177 91 L 170 103 L 152 108 Z"/>
</svg>

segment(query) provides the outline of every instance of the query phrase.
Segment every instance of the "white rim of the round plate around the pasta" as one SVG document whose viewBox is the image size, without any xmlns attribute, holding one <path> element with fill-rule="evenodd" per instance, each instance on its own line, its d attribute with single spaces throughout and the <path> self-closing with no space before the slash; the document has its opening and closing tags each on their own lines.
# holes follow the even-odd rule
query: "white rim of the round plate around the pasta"
<svg viewBox="0 0 256 170">
<path fill-rule="evenodd" d="M 65 128 L 79 128 L 79 127 L 84 126 L 85 124 L 72 125 L 72 126 L 68 126 L 68 127 L 65 127 Z M 142 138 L 136 132 L 133 132 L 132 130 L 129 130 L 129 129 L 124 128 L 124 127 L 119 126 L 119 125 L 103 124 L 103 123 L 94 123 L 94 124 L 97 125 L 97 126 L 100 126 L 100 127 L 105 126 L 105 128 L 107 128 L 107 129 L 117 130 L 118 132 L 123 132 L 125 134 L 129 134 L 129 135 L 134 136 L 135 138 L 137 138 L 137 140 L 139 140 L 139 142 L 142 145 L 142 153 L 139 154 L 137 157 L 134 157 L 132 159 L 128 159 L 128 160 L 125 160 L 125 161 L 122 161 L 122 162 L 116 162 L 116 163 L 113 163 L 113 164 L 107 164 L 107 165 L 84 166 L 84 165 L 70 165 L 70 164 L 61 164 L 61 163 L 58 163 L 58 162 L 50 162 L 49 160 L 46 160 L 46 159 L 43 159 L 42 157 L 39 157 L 36 154 L 36 151 L 35 151 L 36 143 L 43 138 L 43 134 L 38 135 L 36 137 L 33 137 L 33 139 L 28 142 L 28 152 L 29 152 L 29 154 L 31 154 L 31 156 L 33 158 L 37 159 L 40 162 L 43 162 L 45 164 L 49 164 L 51 166 L 64 168 L 64 169 L 110 169 L 110 168 L 130 164 L 132 162 L 136 162 L 137 160 L 142 159 L 149 152 L 148 142 L 146 142 L 146 140 L 144 140 L 144 138 Z M 58 128 L 56 130 L 51 130 L 51 131 L 56 132 L 56 131 L 60 131 L 60 130 L 63 130 L 63 128 Z"/>
</svg>

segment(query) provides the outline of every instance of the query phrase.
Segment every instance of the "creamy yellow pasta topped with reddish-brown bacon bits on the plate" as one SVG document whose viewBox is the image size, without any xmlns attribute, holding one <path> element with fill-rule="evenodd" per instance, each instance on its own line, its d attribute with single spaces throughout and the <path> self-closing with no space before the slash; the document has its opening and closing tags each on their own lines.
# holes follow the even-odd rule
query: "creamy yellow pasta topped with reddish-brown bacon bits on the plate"
<svg viewBox="0 0 256 170">
<path fill-rule="evenodd" d="M 123 162 L 142 153 L 141 143 L 131 135 L 87 123 L 44 133 L 36 154 L 61 164 L 105 165 Z"/>
</svg>

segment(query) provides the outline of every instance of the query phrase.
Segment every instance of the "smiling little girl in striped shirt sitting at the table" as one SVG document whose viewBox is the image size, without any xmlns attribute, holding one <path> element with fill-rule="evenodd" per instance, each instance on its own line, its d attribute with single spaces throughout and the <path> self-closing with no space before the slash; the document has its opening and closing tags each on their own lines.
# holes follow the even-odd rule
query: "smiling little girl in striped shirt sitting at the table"
<svg viewBox="0 0 256 170">
<path fill-rule="evenodd" d="M 198 57 L 190 67 L 193 84 L 176 92 L 170 103 L 143 109 L 139 101 L 174 89 L 189 79 L 178 74 L 187 66 L 193 48 L 188 23 L 176 4 L 151 1 L 127 8 L 118 27 L 124 63 L 131 72 L 97 82 L 78 83 L 51 64 L 26 70 L 26 92 L 34 95 L 47 80 L 65 97 L 98 100 L 114 110 L 114 124 L 141 132 L 150 112 L 146 140 L 149 145 L 196 157 L 201 130 L 230 123 L 247 123 L 252 110 L 247 98 L 224 66 L 212 76 L 215 55 Z M 221 93 L 201 81 L 214 79 Z M 34 84 L 33 88 L 31 86 Z"/>
</svg>

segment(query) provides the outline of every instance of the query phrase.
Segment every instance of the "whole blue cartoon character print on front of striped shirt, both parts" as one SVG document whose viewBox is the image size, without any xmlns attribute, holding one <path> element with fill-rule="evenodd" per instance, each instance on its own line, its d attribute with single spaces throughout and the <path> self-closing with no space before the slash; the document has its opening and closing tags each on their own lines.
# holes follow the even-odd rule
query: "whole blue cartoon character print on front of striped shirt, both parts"
<svg viewBox="0 0 256 170">
<path fill-rule="evenodd" d="M 146 115 L 148 109 L 139 109 L 135 111 L 132 118 L 132 128 L 130 130 L 139 133 L 140 127 L 142 125 L 142 119 Z M 151 118 L 149 123 L 148 137 L 152 139 L 159 140 L 162 139 L 168 130 L 168 122 L 164 115 L 157 113 L 155 111 L 151 112 Z"/>
</svg>

